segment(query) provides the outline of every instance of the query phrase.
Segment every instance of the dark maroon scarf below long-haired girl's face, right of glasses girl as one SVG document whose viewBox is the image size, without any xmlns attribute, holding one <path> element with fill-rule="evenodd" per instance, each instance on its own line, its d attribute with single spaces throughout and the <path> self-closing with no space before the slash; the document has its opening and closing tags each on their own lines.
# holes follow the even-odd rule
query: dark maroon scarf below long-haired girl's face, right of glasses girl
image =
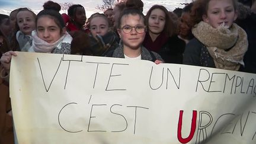
<svg viewBox="0 0 256 144">
<path fill-rule="evenodd" d="M 143 46 L 146 47 L 146 49 L 157 53 L 161 49 L 161 47 L 164 46 L 165 43 L 167 43 L 168 38 L 169 37 L 166 34 L 161 33 L 158 37 L 156 37 L 155 41 L 152 41 L 149 33 L 146 33 L 145 39 L 143 41 Z"/>
</svg>

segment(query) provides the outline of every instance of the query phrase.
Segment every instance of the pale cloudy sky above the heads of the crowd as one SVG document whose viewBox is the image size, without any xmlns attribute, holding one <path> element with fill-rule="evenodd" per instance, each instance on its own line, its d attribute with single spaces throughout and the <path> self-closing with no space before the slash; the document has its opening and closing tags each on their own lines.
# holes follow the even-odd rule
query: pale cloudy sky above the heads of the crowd
<svg viewBox="0 0 256 144">
<path fill-rule="evenodd" d="M 47 0 L 46 0 L 47 1 Z M 0 0 L 0 14 L 9 14 L 13 9 L 28 7 L 33 9 L 37 14 L 41 9 L 43 9 L 43 4 L 46 1 L 42 0 Z M 72 4 L 81 4 L 85 7 L 87 17 L 93 14 L 94 12 L 101 12 L 98 9 L 95 9 L 97 5 L 103 4 L 102 0 L 52 0 L 57 3 L 71 2 Z M 184 5 L 181 3 L 191 2 L 191 0 L 142 0 L 144 3 L 144 13 L 155 4 L 164 5 L 169 11 L 174 10 L 177 7 L 183 8 Z"/>
</svg>

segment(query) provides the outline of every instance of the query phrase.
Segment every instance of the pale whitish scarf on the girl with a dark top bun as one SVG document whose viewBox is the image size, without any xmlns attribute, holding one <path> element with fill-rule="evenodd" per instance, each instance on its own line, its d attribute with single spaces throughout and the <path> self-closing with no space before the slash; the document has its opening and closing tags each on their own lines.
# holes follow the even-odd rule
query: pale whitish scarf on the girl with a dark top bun
<svg viewBox="0 0 256 144">
<path fill-rule="evenodd" d="M 31 46 L 31 52 L 38 53 L 52 53 L 53 49 L 60 49 L 62 43 L 71 43 L 72 37 L 66 32 L 59 40 L 55 41 L 55 43 L 47 43 L 46 41 L 40 39 L 37 36 L 37 32 L 32 31 L 33 42 Z"/>
</svg>

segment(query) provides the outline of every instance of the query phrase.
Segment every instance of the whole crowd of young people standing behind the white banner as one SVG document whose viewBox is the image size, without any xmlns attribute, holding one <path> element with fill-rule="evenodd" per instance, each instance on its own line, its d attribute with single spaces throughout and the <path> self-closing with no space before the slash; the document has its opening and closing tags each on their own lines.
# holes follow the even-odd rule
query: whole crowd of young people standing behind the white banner
<svg viewBox="0 0 256 144">
<path fill-rule="evenodd" d="M 256 0 L 195 0 L 168 11 L 117 2 L 87 19 L 86 9 L 47 1 L 0 14 L 0 143 L 14 143 L 9 69 L 15 51 L 121 57 L 256 73 Z"/>
</svg>

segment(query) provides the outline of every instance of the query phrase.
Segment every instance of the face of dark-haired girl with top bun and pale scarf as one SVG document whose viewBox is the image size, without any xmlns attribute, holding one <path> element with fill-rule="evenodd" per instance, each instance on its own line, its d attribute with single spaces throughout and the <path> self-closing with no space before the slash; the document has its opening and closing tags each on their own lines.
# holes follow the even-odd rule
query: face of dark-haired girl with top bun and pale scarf
<svg viewBox="0 0 256 144">
<path fill-rule="evenodd" d="M 65 30 L 60 33 L 60 27 L 53 18 L 45 15 L 37 20 L 37 36 L 47 43 L 55 43 L 63 36 Z"/>
</svg>

